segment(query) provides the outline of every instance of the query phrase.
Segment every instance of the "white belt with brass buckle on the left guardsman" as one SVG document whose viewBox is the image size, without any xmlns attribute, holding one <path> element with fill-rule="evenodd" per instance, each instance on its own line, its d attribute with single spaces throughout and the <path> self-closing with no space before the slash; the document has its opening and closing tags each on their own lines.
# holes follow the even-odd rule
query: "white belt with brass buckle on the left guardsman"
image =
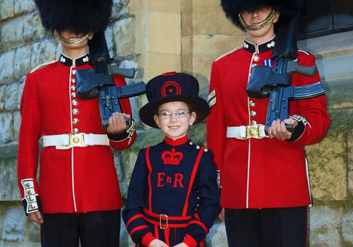
<svg viewBox="0 0 353 247">
<path fill-rule="evenodd" d="M 72 147 L 87 147 L 93 145 L 109 145 L 109 139 L 106 134 L 61 134 L 44 135 L 43 147 L 56 146 L 56 149 L 69 149 Z"/>
</svg>

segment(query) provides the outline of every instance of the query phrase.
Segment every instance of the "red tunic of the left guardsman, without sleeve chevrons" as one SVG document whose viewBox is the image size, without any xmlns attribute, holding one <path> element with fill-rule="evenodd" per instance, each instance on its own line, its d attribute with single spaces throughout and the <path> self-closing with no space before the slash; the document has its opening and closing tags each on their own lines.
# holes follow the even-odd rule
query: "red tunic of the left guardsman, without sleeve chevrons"
<svg viewBox="0 0 353 247">
<path fill-rule="evenodd" d="M 75 94 L 75 70 L 92 68 L 87 63 L 87 56 L 82 61 L 84 57 L 76 60 L 61 58 L 61 62 L 50 63 L 29 73 L 26 78 L 20 105 L 18 183 L 21 197 L 25 199 L 25 186 L 21 180 L 33 179 L 34 191 L 40 196 L 44 213 L 122 207 L 113 153 L 109 146 L 72 147 L 66 150 L 45 147 L 40 153 L 39 184 L 36 181 L 39 139 L 42 135 L 73 134 L 75 131 L 106 134 L 101 127 L 98 99 L 83 100 Z M 73 65 L 70 66 L 70 63 Z M 122 77 L 115 77 L 114 81 L 117 85 L 126 85 Z M 120 100 L 120 103 L 122 112 L 132 113 L 129 99 Z M 75 118 L 77 124 L 73 123 Z M 110 140 L 110 146 L 118 150 L 126 149 L 135 138 L 136 133 L 132 138 L 119 142 Z"/>
</svg>

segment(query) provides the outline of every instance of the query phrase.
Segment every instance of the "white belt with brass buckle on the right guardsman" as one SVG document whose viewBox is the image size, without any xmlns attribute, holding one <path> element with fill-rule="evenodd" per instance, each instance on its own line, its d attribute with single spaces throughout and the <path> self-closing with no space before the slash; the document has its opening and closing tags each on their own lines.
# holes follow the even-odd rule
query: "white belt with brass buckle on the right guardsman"
<svg viewBox="0 0 353 247">
<path fill-rule="evenodd" d="M 268 136 L 265 134 L 265 125 L 263 124 L 227 127 L 227 138 L 261 139 L 264 137 L 268 137 Z"/>
</svg>

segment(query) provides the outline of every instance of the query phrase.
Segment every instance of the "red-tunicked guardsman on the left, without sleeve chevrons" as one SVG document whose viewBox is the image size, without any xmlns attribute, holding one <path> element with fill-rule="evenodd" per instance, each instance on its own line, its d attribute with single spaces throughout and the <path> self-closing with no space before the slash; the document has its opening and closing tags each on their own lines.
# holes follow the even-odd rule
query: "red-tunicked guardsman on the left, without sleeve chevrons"
<svg viewBox="0 0 353 247">
<path fill-rule="evenodd" d="M 36 4 L 62 53 L 27 74 L 22 94 L 18 184 L 26 215 L 41 223 L 44 247 L 75 247 L 79 238 L 84 247 L 118 247 L 122 200 L 111 147 L 129 148 L 136 138 L 130 102 L 120 100 L 122 113 L 103 130 L 98 98 L 79 99 L 75 77 L 93 68 L 88 40 L 105 30 L 112 1 Z M 121 77 L 114 82 L 126 85 Z"/>
</svg>

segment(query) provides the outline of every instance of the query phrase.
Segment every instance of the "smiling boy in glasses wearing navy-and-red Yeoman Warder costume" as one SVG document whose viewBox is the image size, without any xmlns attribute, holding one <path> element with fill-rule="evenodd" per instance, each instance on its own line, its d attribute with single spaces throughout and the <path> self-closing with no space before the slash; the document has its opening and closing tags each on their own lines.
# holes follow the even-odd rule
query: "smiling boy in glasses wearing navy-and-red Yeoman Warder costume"
<svg viewBox="0 0 353 247">
<path fill-rule="evenodd" d="M 166 73 L 146 85 L 140 119 L 166 136 L 140 150 L 132 172 L 122 214 L 136 246 L 204 246 L 220 211 L 212 154 L 187 136 L 189 126 L 209 113 L 198 92 L 197 80 L 183 73 Z"/>
</svg>

